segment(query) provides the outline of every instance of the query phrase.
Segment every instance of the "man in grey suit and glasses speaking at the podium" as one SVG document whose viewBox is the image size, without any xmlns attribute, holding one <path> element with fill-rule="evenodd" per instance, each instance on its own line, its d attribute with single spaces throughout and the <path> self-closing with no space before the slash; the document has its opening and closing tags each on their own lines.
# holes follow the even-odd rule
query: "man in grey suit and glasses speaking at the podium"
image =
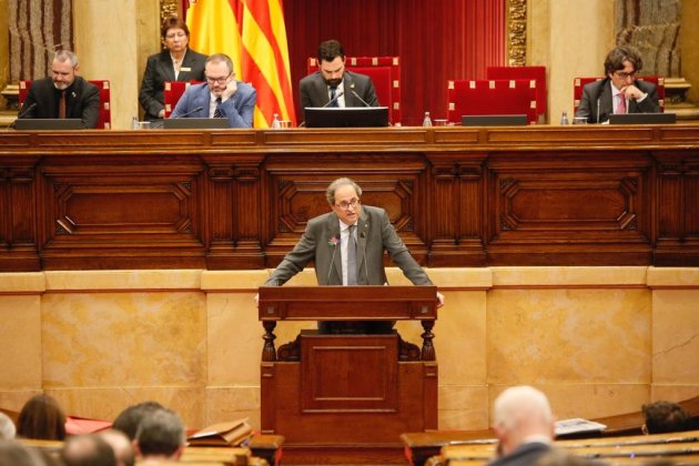
<svg viewBox="0 0 699 466">
<path fill-rule="evenodd" d="M 332 212 L 311 219 L 293 251 L 274 270 L 265 286 L 281 286 L 315 262 L 320 285 L 385 285 L 384 251 L 415 285 L 432 285 L 413 259 L 385 210 L 362 205 L 362 189 L 351 179 L 333 181 L 325 193 Z M 437 293 L 439 306 L 444 296 Z M 388 324 L 388 325 L 382 325 Z M 385 333 L 391 323 L 321 322 L 324 333 Z"/>
</svg>

